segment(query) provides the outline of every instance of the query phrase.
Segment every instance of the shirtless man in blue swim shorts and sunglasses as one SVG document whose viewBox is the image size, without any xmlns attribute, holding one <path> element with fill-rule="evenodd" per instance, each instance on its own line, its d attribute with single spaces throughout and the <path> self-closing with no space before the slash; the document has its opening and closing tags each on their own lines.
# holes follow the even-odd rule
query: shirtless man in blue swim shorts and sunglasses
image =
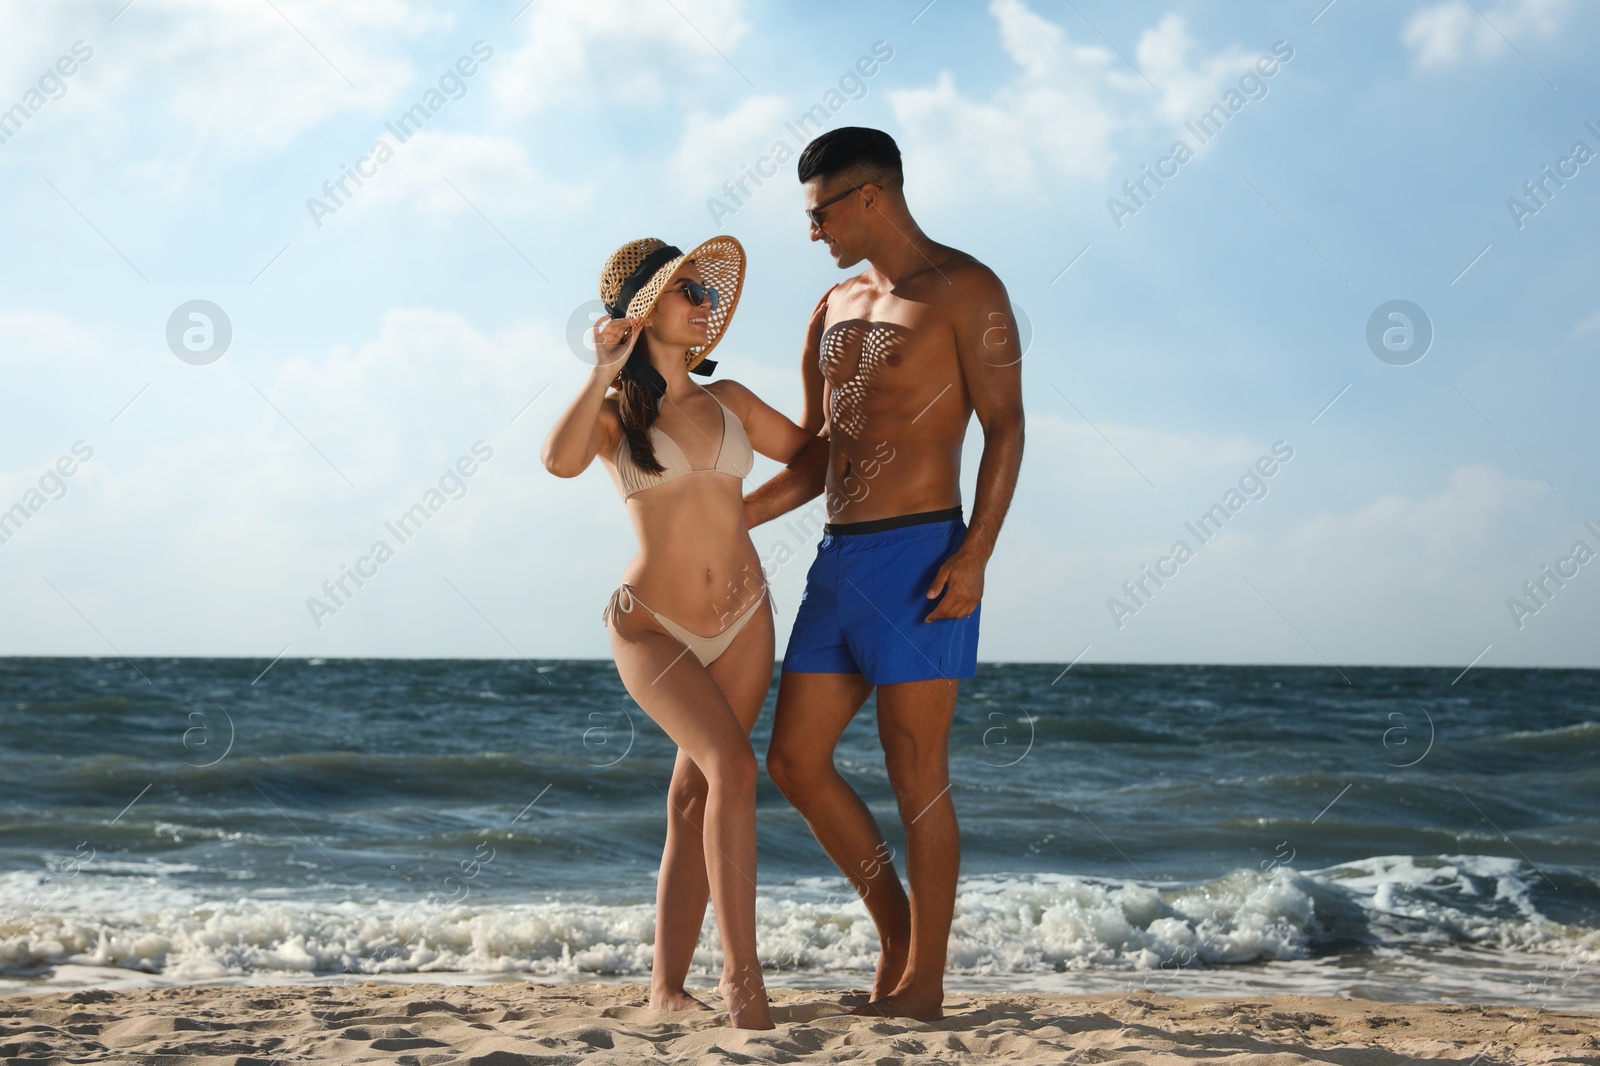
<svg viewBox="0 0 1600 1066">
<path fill-rule="evenodd" d="M 806 331 L 802 424 L 826 442 L 746 499 L 754 527 L 827 491 L 766 770 L 877 924 L 872 994 L 854 1013 L 936 1020 L 960 868 L 950 717 L 958 679 L 974 672 L 984 565 L 1022 463 L 1021 352 L 994 272 L 912 219 L 886 133 L 824 133 L 798 171 L 811 240 L 840 267 L 869 266 L 822 296 Z M 974 413 L 984 451 L 966 525 L 962 442 Z M 909 898 L 872 812 L 834 767 L 874 688 Z"/>
</svg>

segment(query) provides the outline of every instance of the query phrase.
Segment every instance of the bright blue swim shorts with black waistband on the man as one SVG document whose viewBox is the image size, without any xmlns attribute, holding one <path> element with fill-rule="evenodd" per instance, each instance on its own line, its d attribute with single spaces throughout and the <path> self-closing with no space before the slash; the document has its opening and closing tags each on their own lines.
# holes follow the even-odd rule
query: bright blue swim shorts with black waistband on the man
<svg viewBox="0 0 1600 1066">
<path fill-rule="evenodd" d="M 824 527 L 784 671 L 861 674 L 874 685 L 971 677 L 982 605 L 923 621 L 939 603 L 928 586 L 965 536 L 958 506 Z"/>
</svg>

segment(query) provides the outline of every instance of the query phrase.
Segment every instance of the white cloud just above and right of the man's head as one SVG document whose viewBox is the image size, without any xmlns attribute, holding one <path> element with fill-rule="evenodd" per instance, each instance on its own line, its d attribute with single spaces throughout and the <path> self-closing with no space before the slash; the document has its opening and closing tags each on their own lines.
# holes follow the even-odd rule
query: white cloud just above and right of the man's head
<svg viewBox="0 0 1600 1066">
<path fill-rule="evenodd" d="M 1168 14 L 1134 48 L 1146 82 L 1109 48 L 1074 42 L 1022 0 L 990 0 L 989 11 L 1019 67 L 1013 82 L 976 99 L 941 72 L 930 86 L 890 93 L 906 130 L 907 171 L 934 198 L 970 181 L 1032 194 L 1054 178 L 1104 179 L 1118 163 L 1115 134 L 1194 117 L 1254 56 L 1234 46 L 1192 58 L 1184 19 Z M 952 158 L 963 165 L 950 168 Z"/>
</svg>

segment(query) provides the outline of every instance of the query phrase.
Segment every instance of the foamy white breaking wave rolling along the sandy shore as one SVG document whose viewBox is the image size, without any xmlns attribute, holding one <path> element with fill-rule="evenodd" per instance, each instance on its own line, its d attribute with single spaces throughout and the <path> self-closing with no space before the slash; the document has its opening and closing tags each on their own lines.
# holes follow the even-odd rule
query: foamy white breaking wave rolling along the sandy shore
<svg viewBox="0 0 1600 1066">
<path fill-rule="evenodd" d="M 1032 874 L 962 882 L 957 975 L 1171 970 L 1312 959 L 1352 944 L 1470 946 L 1600 962 L 1600 887 L 1566 922 L 1541 911 L 1538 871 L 1493 856 L 1378 856 L 1320 871 L 1235 869 L 1190 885 Z M 90 876 L 83 876 L 90 880 Z M 832 888 L 830 888 L 832 885 Z M 61 909 L 19 914 L 0 885 L 0 970 L 78 964 L 211 980 L 259 973 L 645 975 L 648 903 L 462 900 L 142 900 L 82 885 Z M 1582 893 L 1578 893 L 1582 895 Z M 174 906 L 178 904 L 178 906 Z M 8 917 L 6 917 L 8 916 Z M 870 972 L 877 935 L 840 882 L 763 888 L 763 960 L 776 970 Z M 696 967 L 720 965 L 707 914 Z"/>
</svg>

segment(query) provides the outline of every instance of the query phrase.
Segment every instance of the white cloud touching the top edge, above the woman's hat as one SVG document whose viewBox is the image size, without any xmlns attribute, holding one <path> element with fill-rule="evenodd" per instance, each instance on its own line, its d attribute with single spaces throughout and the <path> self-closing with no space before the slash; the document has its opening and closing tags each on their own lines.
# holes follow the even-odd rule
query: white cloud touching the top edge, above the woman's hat
<svg viewBox="0 0 1600 1066">
<path fill-rule="evenodd" d="M 738 78 L 723 54 L 750 29 L 742 0 L 534 0 L 518 24 L 525 43 L 493 75 L 507 117 L 574 99 L 651 114 L 715 91 Z"/>
</svg>

